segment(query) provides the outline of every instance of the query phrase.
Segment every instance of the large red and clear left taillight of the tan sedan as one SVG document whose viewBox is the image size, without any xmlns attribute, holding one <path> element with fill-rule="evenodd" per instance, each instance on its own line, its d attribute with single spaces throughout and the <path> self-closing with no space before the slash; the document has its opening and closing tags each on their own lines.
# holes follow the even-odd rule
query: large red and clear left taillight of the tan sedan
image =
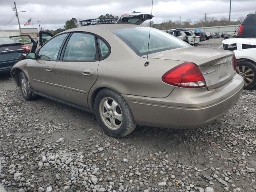
<svg viewBox="0 0 256 192">
<path fill-rule="evenodd" d="M 206 86 L 204 76 L 198 66 L 191 62 L 185 62 L 172 68 L 162 76 L 162 81 L 170 85 L 186 88 Z"/>
</svg>

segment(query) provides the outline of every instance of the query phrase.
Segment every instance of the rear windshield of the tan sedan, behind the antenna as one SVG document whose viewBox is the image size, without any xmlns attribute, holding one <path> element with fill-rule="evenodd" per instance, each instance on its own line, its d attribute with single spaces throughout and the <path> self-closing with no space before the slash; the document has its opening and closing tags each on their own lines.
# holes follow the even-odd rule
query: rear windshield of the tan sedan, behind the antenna
<svg viewBox="0 0 256 192">
<path fill-rule="evenodd" d="M 148 48 L 149 29 L 148 27 L 124 28 L 114 31 L 114 34 L 139 56 L 146 55 L 147 52 L 150 54 L 190 46 L 166 32 L 151 28 Z"/>
</svg>

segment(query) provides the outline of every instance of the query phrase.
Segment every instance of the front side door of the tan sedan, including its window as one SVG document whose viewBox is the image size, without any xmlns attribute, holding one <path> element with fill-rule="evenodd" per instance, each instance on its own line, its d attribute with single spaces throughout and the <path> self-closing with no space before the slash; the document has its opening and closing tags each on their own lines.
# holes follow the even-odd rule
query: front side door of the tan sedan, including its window
<svg viewBox="0 0 256 192">
<path fill-rule="evenodd" d="M 32 88 L 49 96 L 56 96 L 56 76 L 54 66 L 68 34 L 55 36 L 42 46 L 35 59 L 28 60 L 27 69 Z"/>
</svg>

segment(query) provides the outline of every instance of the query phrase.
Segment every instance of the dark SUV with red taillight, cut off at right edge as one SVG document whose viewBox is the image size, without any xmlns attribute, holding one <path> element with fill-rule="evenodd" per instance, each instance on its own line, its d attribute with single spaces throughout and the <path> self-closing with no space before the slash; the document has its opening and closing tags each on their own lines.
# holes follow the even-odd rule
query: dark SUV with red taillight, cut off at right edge
<svg viewBox="0 0 256 192">
<path fill-rule="evenodd" d="M 236 38 L 256 37 L 256 14 L 248 14 L 238 29 Z"/>
</svg>

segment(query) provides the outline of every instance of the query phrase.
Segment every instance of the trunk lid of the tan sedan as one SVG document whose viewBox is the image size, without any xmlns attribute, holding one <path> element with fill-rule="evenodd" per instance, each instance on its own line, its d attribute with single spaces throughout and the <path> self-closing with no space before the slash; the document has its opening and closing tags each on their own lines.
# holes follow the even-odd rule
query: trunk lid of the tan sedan
<svg viewBox="0 0 256 192">
<path fill-rule="evenodd" d="M 233 55 L 231 51 L 186 47 L 152 53 L 148 58 L 193 62 L 202 72 L 208 90 L 212 90 L 234 77 Z"/>
</svg>

